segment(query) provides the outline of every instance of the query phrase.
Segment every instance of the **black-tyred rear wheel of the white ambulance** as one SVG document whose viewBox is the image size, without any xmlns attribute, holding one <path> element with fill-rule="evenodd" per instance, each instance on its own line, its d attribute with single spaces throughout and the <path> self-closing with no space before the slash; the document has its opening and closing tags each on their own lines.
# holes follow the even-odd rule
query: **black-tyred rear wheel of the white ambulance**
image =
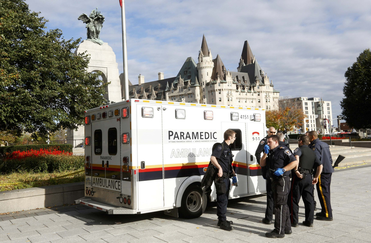
<svg viewBox="0 0 371 243">
<path fill-rule="evenodd" d="M 190 185 L 183 193 L 179 215 L 185 219 L 198 218 L 205 211 L 206 204 L 207 198 L 201 187 Z"/>
</svg>

